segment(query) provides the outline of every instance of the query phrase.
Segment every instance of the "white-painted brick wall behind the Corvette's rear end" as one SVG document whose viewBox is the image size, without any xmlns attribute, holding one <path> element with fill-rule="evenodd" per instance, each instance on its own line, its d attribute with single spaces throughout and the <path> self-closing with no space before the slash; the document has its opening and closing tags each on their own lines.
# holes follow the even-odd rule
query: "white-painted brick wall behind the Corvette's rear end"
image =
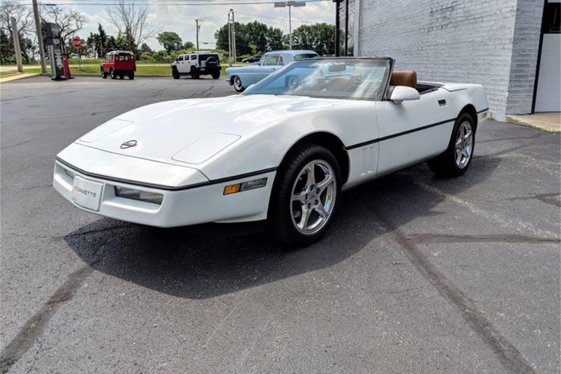
<svg viewBox="0 0 561 374">
<path fill-rule="evenodd" d="M 542 6 L 541 0 L 360 0 L 358 54 L 392 57 L 397 69 L 416 70 L 420 80 L 482 84 L 497 119 L 527 113 Z"/>
</svg>

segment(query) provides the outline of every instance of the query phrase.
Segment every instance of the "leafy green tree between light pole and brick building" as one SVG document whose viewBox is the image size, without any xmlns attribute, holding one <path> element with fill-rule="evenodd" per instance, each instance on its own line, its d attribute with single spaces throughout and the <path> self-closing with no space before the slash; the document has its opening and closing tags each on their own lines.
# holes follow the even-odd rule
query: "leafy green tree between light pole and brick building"
<svg viewBox="0 0 561 374">
<path fill-rule="evenodd" d="M 312 49 L 319 54 L 335 53 L 335 25 L 301 25 L 292 31 L 292 48 Z"/>
</svg>

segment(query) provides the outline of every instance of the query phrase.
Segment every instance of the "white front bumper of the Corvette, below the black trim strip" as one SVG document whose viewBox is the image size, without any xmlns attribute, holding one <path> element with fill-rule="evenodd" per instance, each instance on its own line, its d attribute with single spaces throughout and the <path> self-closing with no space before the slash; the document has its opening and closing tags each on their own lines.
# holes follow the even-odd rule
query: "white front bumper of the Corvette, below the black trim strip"
<svg viewBox="0 0 561 374">
<path fill-rule="evenodd" d="M 183 187 L 181 190 L 166 190 L 118 182 L 112 178 L 91 176 L 84 173 L 84 170 L 76 170 L 67 163 L 57 160 L 54 165 L 53 187 L 66 200 L 91 213 L 149 226 L 177 227 L 208 222 L 245 222 L 266 219 L 275 173 L 275 171 L 271 171 L 224 182 L 209 182 L 199 187 L 195 185 Z M 91 182 L 102 183 L 99 210 L 88 209 L 72 201 L 73 182 L 76 176 Z M 228 184 L 257 178 L 267 178 L 265 187 L 223 195 L 224 187 Z M 116 196 L 115 187 L 160 193 L 163 195 L 162 204 Z"/>
</svg>

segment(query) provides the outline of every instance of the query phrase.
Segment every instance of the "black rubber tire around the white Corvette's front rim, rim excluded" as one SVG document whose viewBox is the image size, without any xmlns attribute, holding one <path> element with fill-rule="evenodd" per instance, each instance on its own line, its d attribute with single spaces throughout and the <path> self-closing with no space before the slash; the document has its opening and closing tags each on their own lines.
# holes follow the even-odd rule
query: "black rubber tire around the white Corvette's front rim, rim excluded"
<svg viewBox="0 0 561 374">
<path fill-rule="evenodd" d="M 333 168 L 335 180 L 337 181 L 335 204 L 327 224 L 325 224 L 318 233 L 304 235 L 300 233 L 292 223 L 291 195 L 298 174 L 307 163 L 313 160 L 323 160 Z M 281 167 L 277 170 L 277 177 L 275 177 L 270 197 L 270 228 L 275 238 L 283 243 L 296 247 L 307 246 L 319 241 L 327 232 L 333 222 L 335 214 L 337 214 L 339 201 L 341 200 L 341 182 L 342 177 L 339 163 L 333 153 L 327 148 L 315 144 L 305 144 L 287 155 L 286 163 L 283 162 Z"/>
</svg>

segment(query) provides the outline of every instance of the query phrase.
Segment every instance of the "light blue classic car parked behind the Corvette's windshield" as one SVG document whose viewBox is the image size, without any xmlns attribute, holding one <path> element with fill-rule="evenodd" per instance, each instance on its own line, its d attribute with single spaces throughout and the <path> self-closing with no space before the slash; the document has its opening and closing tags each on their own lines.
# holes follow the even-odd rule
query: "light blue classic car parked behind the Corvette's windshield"
<svg viewBox="0 0 561 374">
<path fill-rule="evenodd" d="M 242 92 L 292 61 L 315 57 L 319 57 L 319 55 L 313 50 L 272 50 L 263 54 L 260 61 L 255 64 L 227 68 L 226 81 L 229 85 L 234 86 L 236 91 Z"/>
</svg>

